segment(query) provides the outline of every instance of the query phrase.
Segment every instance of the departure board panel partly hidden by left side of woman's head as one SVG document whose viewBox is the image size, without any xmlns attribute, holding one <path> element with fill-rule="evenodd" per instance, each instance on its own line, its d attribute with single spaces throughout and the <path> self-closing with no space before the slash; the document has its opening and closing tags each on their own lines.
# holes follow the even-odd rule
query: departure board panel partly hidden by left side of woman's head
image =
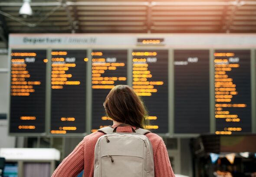
<svg viewBox="0 0 256 177">
<path fill-rule="evenodd" d="M 112 125 L 103 103 L 115 85 L 127 85 L 127 51 L 92 51 L 92 132 Z"/>
</svg>

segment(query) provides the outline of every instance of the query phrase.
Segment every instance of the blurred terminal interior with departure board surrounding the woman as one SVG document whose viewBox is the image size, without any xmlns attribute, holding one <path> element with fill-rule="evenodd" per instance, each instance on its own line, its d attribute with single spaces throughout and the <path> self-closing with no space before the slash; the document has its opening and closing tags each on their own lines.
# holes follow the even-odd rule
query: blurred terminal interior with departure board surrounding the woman
<svg viewBox="0 0 256 177">
<path fill-rule="evenodd" d="M 256 0 L 0 0 L 0 177 L 50 177 L 115 85 L 176 177 L 256 177 Z"/>
</svg>

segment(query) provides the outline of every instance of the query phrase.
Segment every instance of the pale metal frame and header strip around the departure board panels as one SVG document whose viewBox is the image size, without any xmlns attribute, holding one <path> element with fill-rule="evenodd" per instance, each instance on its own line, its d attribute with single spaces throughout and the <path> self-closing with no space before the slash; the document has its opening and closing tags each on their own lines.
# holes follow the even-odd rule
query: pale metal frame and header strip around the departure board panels
<svg viewBox="0 0 256 177">
<path fill-rule="evenodd" d="M 117 38 L 117 37 L 124 37 L 125 41 L 128 41 L 126 44 L 125 42 L 121 45 L 118 44 L 112 44 L 108 41 L 108 44 L 20 44 L 20 41 L 17 43 L 14 43 L 15 38 L 18 36 L 18 38 L 23 36 L 29 36 L 29 37 L 45 37 L 49 36 L 49 38 L 56 36 L 65 37 L 69 36 L 70 34 L 15 34 L 11 35 L 10 38 L 12 39 L 10 41 L 10 47 L 8 50 L 8 85 L 10 85 L 10 53 L 11 50 L 28 50 L 28 49 L 35 49 L 35 50 L 46 50 L 47 52 L 47 58 L 48 62 L 46 63 L 46 70 L 48 73 L 46 73 L 46 131 L 45 133 L 9 133 L 13 136 L 46 136 L 46 137 L 58 137 L 58 136 L 76 136 L 81 137 L 85 136 L 86 134 L 91 133 L 91 122 L 92 122 L 92 84 L 91 84 L 91 77 L 92 77 L 92 71 L 91 71 L 91 65 L 92 65 L 92 56 L 91 51 L 93 49 L 109 49 L 109 50 L 118 50 L 118 49 L 125 49 L 128 51 L 128 61 L 127 61 L 127 84 L 132 85 L 132 56 L 131 52 L 133 50 L 167 50 L 168 51 L 168 117 L 169 117 L 169 133 L 166 134 L 159 134 L 160 136 L 169 136 L 169 137 L 194 137 L 198 136 L 199 134 L 174 134 L 174 50 L 209 50 L 210 51 L 210 57 L 209 57 L 209 79 L 210 79 L 210 133 L 215 133 L 215 114 L 214 114 L 214 108 L 215 108 L 215 101 L 214 101 L 214 51 L 217 49 L 229 49 L 229 50 L 250 50 L 251 51 L 251 109 L 252 109 L 252 133 L 256 133 L 256 42 L 253 40 L 256 38 L 256 35 L 253 34 L 107 34 L 105 36 L 108 36 L 108 38 Z M 101 38 L 104 35 L 102 34 L 86 34 L 83 36 L 83 34 L 74 34 L 72 36 L 78 36 L 78 37 L 95 37 L 95 38 Z M 193 44 L 193 41 L 191 43 L 188 43 L 189 40 L 197 41 L 197 36 L 199 36 L 198 44 Z M 215 36 L 217 36 L 215 38 Z M 147 46 L 141 46 L 136 44 L 136 42 L 131 42 L 132 40 L 128 40 L 128 38 L 165 38 L 166 42 L 164 45 L 147 45 Z M 180 40 L 177 42 L 177 38 Z M 203 40 L 205 38 L 205 41 Z M 233 39 L 233 41 L 229 41 L 229 39 Z M 213 40 L 213 41 L 211 41 Z M 223 40 L 218 41 L 218 40 Z M 224 40 L 226 40 L 224 42 Z M 100 40 L 99 40 L 100 41 Z M 236 41 L 236 43 L 234 43 Z M 173 43 L 172 43 L 173 42 Z M 205 44 L 204 44 L 205 42 Z M 228 47 L 227 47 L 228 46 Z M 66 49 L 66 50 L 85 50 L 87 51 L 87 72 L 86 72 L 86 133 L 70 133 L 70 134 L 50 134 L 49 133 L 49 124 L 50 124 L 50 72 L 51 72 L 51 65 L 50 65 L 50 51 L 53 49 Z M 9 93 L 10 93 L 10 86 L 9 86 Z M 9 105 L 9 112 L 7 113 L 7 119 L 10 123 L 10 99 L 8 100 L 7 104 Z M 8 126 L 9 131 L 10 126 Z"/>
</svg>

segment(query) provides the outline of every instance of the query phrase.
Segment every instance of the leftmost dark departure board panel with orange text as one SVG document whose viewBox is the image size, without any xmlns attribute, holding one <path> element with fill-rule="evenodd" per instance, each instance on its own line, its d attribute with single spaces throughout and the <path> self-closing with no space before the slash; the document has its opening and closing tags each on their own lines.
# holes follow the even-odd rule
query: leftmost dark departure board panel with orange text
<svg viewBox="0 0 256 177">
<path fill-rule="evenodd" d="M 44 133 L 46 50 L 11 51 L 10 133 Z"/>
</svg>

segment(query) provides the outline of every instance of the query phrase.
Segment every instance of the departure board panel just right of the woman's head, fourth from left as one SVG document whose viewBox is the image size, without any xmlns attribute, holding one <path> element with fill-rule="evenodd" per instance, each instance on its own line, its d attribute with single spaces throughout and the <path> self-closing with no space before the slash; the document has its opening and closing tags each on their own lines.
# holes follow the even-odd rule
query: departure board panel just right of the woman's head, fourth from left
<svg viewBox="0 0 256 177">
<path fill-rule="evenodd" d="M 132 88 L 147 107 L 147 128 L 168 133 L 168 51 L 134 50 L 132 57 Z"/>
</svg>

